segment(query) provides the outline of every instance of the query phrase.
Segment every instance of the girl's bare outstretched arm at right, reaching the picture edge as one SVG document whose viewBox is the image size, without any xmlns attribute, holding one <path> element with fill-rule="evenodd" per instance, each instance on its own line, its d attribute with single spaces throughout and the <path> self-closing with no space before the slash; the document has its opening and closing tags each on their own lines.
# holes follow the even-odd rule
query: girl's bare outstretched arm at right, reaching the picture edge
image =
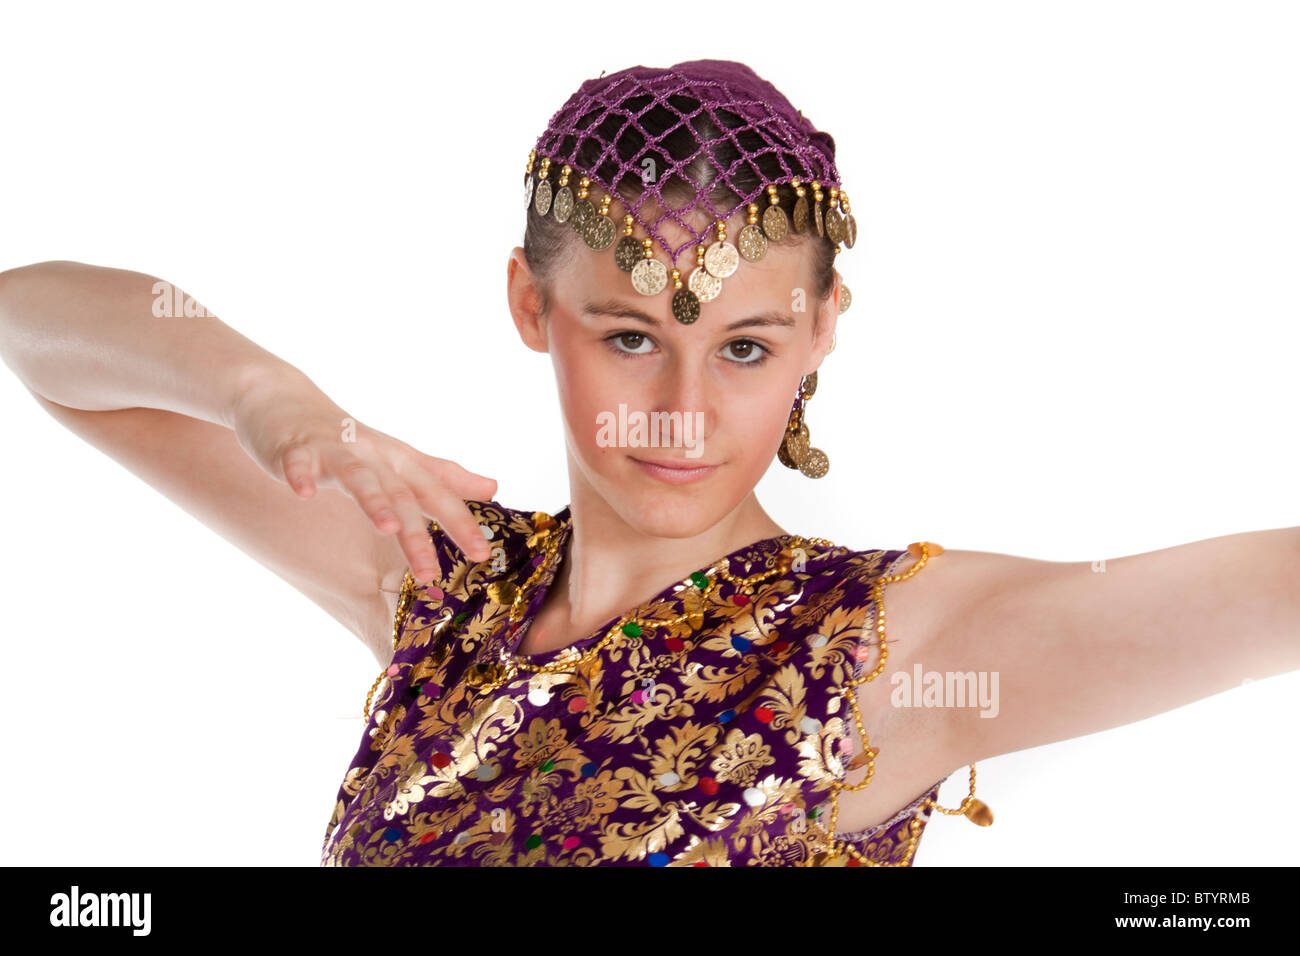
<svg viewBox="0 0 1300 956">
<path fill-rule="evenodd" d="M 918 581 L 927 576 L 924 594 L 894 592 L 939 609 L 924 613 L 930 639 L 914 663 L 945 683 L 952 672 L 983 671 L 997 688 L 996 715 L 944 708 L 956 763 L 1132 723 L 1300 669 L 1300 528 L 1104 562 L 948 550 Z"/>
</svg>

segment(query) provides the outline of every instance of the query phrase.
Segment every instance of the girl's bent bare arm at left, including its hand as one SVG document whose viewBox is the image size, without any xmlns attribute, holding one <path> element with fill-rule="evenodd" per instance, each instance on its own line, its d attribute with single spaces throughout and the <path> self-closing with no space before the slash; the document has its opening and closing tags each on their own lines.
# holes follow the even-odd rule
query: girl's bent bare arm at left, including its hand
<svg viewBox="0 0 1300 956">
<path fill-rule="evenodd" d="M 403 570 L 432 566 L 425 512 L 486 546 L 464 498 L 490 498 L 491 479 L 350 429 L 299 369 L 155 276 L 72 261 L 0 273 L 0 355 L 55 419 L 382 662 Z"/>
</svg>

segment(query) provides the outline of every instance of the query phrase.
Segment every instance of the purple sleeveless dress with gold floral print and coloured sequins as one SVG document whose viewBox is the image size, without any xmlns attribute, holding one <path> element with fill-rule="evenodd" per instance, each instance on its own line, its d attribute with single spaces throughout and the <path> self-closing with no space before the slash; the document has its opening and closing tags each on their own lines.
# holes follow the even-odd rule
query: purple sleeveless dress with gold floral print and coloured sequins
<svg viewBox="0 0 1300 956">
<path fill-rule="evenodd" d="M 493 557 L 429 522 L 436 579 L 406 576 L 322 866 L 911 865 L 946 777 L 879 826 L 827 831 L 832 783 L 867 762 L 844 684 L 879 659 L 872 583 L 907 550 L 757 541 L 640 605 L 640 627 L 515 658 L 569 509 L 465 503 Z"/>
</svg>

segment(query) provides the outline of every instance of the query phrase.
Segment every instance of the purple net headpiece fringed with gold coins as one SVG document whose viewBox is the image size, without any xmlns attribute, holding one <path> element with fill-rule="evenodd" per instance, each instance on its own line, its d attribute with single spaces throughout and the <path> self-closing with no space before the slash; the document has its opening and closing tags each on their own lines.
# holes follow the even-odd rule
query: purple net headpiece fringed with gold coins
<svg viewBox="0 0 1300 956">
<path fill-rule="evenodd" d="M 692 60 L 584 82 L 528 153 L 524 193 L 594 250 L 621 232 L 615 261 L 632 286 L 656 295 L 671 282 L 673 316 L 689 324 L 741 256 L 762 259 L 790 232 L 815 229 L 836 252 L 841 242 L 852 248 L 857 224 L 840 186 L 835 139 L 776 87 L 733 60 Z M 746 222 L 732 243 L 727 221 L 737 209 Z M 668 220 L 690 237 L 676 248 L 660 229 Z M 671 269 L 654 258 L 656 242 Z M 696 267 L 684 284 L 677 259 L 689 247 Z M 848 303 L 841 286 L 841 312 Z"/>
</svg>

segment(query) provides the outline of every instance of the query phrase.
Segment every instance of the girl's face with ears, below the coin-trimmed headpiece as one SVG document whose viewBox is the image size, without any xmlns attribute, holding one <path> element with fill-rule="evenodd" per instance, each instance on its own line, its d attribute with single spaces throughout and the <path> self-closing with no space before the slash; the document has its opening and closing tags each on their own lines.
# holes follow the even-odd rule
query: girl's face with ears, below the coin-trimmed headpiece
<svg viewBox="0 0 1300 956">
<path fill-rule="evenodd" d="M 728 242 L 742 225 L 742 213 L 732 217 Z M 673 245 L 688 238 L 676 224 L 662 228 Z M 577 235 L 540 316 L 523 248 L 512 252 L 511 308 L 525 343 L 551 355 L 571 470 L 625 523 L 646 535 L 694 536 L 731 515 L 762 479 L 800 381 L 835 332 L 838 274 L 829 299 L 816 300 L 811 258 L 809 241 L 786 239 L 757 263 L 741 259 L 722 294 L 682 325 L 671 278 L 660 294 L 641 295 L 611 248 L 593 251 Z M 677 268 L 685 284 L 694 247 Z"/>
</svg>

